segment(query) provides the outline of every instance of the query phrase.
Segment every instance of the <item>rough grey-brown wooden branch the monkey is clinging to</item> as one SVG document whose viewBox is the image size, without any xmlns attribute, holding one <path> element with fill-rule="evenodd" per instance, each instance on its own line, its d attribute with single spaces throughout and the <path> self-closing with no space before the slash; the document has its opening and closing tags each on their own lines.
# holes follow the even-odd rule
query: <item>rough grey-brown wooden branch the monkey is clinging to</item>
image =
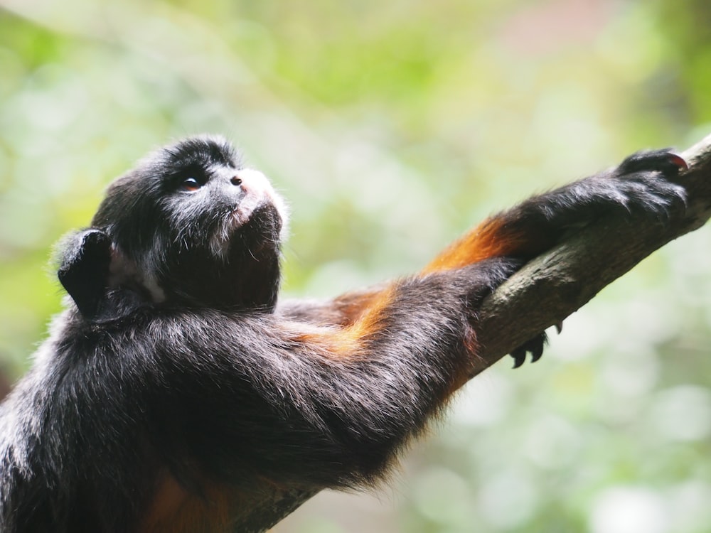
<svg viewBox="0 0 711 533">
<path fill-rule="evenodd" d="M 678 178 L 688 191 L 686 208 L 671 212 L 664 223 L 645 217 L 598 220 L 527 264 L 487 298 L 479 316 L 481 357 L 473 376 L 562 322 L 656 249 L 704 225 L 711 216 L 711 135 L 683 156 L 690 165 Z M 264 532 L 316 492 L 268 483 L 255 487 L 245 497 L 234 531 Z"/>
</svg>

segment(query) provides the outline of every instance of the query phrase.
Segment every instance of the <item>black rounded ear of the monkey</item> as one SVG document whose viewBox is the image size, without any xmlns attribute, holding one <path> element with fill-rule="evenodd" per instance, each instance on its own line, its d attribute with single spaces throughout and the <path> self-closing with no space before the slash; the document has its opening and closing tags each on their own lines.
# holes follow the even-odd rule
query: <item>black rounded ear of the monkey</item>
<svg viewBox="0 0 711 533">
<path fill-rule="evenodd" d="M 107 297 L 111 239 L 101 230 L 85 230 L 60 243 L 59 281 L 87 321 L 94 321 Z"/>
</svg>

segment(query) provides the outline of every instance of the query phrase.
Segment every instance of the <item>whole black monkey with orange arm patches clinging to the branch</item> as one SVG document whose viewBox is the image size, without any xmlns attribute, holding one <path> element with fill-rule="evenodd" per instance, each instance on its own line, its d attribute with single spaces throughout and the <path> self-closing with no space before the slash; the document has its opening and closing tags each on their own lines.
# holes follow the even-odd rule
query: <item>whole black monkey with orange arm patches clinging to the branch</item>
<svg viewBox="0 0 711 533">
<path fill-rule="evenodd" d="M 0 530 L 228 532 L 257 479 L 374 483 L 469 376 L 482 299 L 601 212 L 663 218 L 680 168 L 634 154 L 419 274 L 277 304 L 285 213 L 266 178 L 218 137 L 156 151 L 60 245 L 72 301 L 0 407 Z"/>
</svg>

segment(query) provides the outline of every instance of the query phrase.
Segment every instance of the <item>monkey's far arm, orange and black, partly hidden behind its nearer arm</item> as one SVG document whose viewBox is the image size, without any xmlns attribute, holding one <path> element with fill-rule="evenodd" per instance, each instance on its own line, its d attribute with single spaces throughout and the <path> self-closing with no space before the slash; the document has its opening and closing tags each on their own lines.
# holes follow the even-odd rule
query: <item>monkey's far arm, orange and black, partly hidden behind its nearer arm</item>
<svg viewBox="0 0 711 533">
<path fill-rule="evenodd" d="M 687 164 L 668 150 L 642 151 L 618 167 L 584 178 L 494 215 L 451 244 L 422 269 L 420 276 L 474 264 L 491 257 L 526 262 L 557 244 L 580 225 L 610 210 L 640 211 L 663 219 L 683 188 L 668 181 Z M 279 303 L 280 316 L 321 325 L 348 325 L 375 303 L 385 286 L 346 293 L 329 301 Z M 517 358 L 517 363 L 520 357 Z"/>
</svg>

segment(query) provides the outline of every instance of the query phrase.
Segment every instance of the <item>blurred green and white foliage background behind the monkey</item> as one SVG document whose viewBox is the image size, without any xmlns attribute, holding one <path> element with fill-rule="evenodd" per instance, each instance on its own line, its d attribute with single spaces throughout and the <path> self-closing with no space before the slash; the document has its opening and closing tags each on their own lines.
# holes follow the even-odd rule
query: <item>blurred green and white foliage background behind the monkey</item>
<svg viewBox="0 0 711 533">
<path fill-rule="evenodd" d="M 405 274 L 487 213 L 711 132 L 707 0 L 0 0 L 0 365 L 114 177 L 229 136 L 292 206 L 284 289 Z M 711 228 L 503 361 L 375 493 L 279 533 L 711 532 Z"/>
</svg>

